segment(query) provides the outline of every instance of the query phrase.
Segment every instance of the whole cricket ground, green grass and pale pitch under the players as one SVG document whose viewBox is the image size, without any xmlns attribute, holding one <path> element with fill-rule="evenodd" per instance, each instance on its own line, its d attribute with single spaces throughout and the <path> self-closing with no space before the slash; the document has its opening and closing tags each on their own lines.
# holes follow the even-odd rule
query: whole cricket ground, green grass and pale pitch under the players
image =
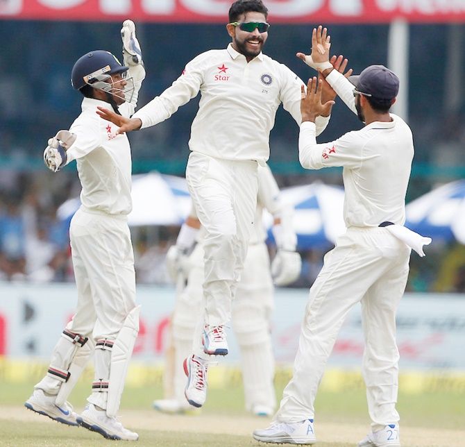
<svg viewBox="0 0 465 447">
<path fill-rule="evenodd" d="M 0 446 L 80 447 L 115 445 L 83 428 L 68 427 L 23 407 L 34 382 L 0 382 Z M 278 383 L 277 396 L 284 383 Z M 79 412 L 88 387 L 79 383 L 70 396 Z M 121 401 L 121 421 L 139 433 L 137 446 L 241 447 L 264 446 L 251 433 L 270 419 L 244 410 L 242 387 L 209 390 L 208 400 L 192 414 L 167 415 L 151 409 L 162 397 L 160 385 L 126 387 Z M 403 447 L 465 446 L 465 394 L 463 391 L 400 393 L 400 437 Z M 321 447 L 356 446 L 369 430 L 363 389 L 321 391 L 316 400 L 316 437 Z M 125 442 L 125 441 L 121 441 Z"/>
</svg>

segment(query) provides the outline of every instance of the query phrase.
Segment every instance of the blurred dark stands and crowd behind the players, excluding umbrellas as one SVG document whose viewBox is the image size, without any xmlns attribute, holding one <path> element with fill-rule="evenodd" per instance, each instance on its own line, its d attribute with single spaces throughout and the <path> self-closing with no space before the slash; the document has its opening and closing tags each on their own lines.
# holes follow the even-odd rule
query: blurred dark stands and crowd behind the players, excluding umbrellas
<svg viewBox="0 0 465 447">
<path fill-rule="evenodd" d="M 144 55 L 148 76 L 141 92 L 141 104 L 170 85 L 192 57 L 207 48 L 224 47 L 229 41 L 222 24 L 138 26 L 142 46 L 148 49 Z M 0 280 L 74 280 L 69 218 L 58 217 L 57 210 L 66 199 L 78 196 L 77 174 L 71 167 L 56 175 L 46 171 L 42 150 L 51 135 L 71 124 L 80 108 L 81 99 L 69 83 L 69 71 L 76 56 L 96 48 L 119 54 L 119 39 L 115 40 L 119 28 L 117 22 L 35 21 L 4 21 L 0 27 L 0 37 L 9 42 L 0 55 Z M 295 52 L 305 49 L 302 45 L 309 42 L 308 30 L 308 25 L 273 25 L 273 40 L 267 44 L 269 56 L 284 62 L 303 78 L 308 76 L 307 67 L 295 57 Z M 387 24 L 331 27 L 334 42 L 350 39 L 346 56 L 355 72 L 373 61 L 386 64 L 388 31 Z M 409 33 L 409 96 L 414 99 L 409 101 L 409 124 L 414 130 L 416 154 L 407 201 L 428 192 L 434 183 L 463 177 L 465 169 L 462 155 L 465 127 L 461 126 L 465 119 L 464 95 L 455 94 L 452 101 L 446 83 L 437 81 L 447 74 L 443 59 L 435 55 L 443 54 L 449 26 L 411 26 Z M 192 40 L 192 35 L 196 39 Z M 371 42 L 369 52 L 367 41 Z M 65 49 L 62 42 L 67 42 Z M 435 99 L 434 107 L 431 107 L 431 98 Z M 196 101 L 191 101 L 168 121 L 131 135 L 135 173 L 160 169 L 182 175 L 189 126 L 196 108 Z M 37 119 L 38 111 L 40 119 Z M 355 115 L 336 104 L 325 139 L 331 140 L 357 126 L 360 123 Z M 316 174 L 302 174 L 298 165 L 297 135 L 294 122 L 278 110 L 271 133 L 270 166 L 273 171 L 276 168 L 274 172 L 281 186 L 315 180 Z M 326 183 L 338 183 L 341 179 L 340 171 L 331 169 L 318 175 L 324 175 L 321 179 Z M 178 228 L 131 230 L 137 281 L 169 282 L 164 255 L 174 243 Z M 426 252 L 427 257 L 421 260 L 412 255 L 407 289 L 465 292 L 465 247 L 434 243 Z M 301 255 L 301 277 L 294 286 L 308 287 L 321 268 L 324 252 L 319 249 Z"/>
</svg>

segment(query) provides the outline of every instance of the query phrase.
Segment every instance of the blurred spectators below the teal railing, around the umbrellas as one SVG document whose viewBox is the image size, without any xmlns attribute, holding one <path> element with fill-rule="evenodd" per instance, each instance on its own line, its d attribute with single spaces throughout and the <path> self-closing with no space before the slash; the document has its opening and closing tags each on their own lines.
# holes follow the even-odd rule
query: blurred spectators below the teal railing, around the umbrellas
<svg viewBox="0 0 465 447">
<path fill-rule="evenodd" d="M 74 281 L 68 235 L 71 215 L 58 209 L 78 194 L 74 169 L 54 175 L 0 170 L 0 280 Z M 131 228 L 139 284 L 170 283 L 164 258 L 178 230 L 176 226 Z M 329 248 L 301 252 L 301 276 L 291 287 L 312 285 Z M 425 251 L 425 258 L 412 254 L 407 291 L 465 293 L 465 246 L 437 243 Z"/>
</svg>

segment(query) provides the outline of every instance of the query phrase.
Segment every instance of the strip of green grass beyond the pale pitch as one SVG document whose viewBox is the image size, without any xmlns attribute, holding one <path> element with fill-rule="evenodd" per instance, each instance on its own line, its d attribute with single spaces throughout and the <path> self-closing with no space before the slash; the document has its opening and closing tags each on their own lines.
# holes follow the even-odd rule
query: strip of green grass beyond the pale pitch
<svg viewBox="0 0 465 447">
<path fill-rule="evenodd" d="M 282 396 L 285 383 L 276 387 L 278 400 Z M 0 405 L 22 405 L 31 394 L 34 382 L 0 382 Z M 76 408 L 85 405 L 89 385 L 78 383 L 69 400 Z M 127 410 L 147 410 L 154 399 L 162 398 L 162 388 L 126 387 L 121 399 L 121 408 Z M 463 429 L 465 421 L 465 394 L 453 391 L 437 391 L 423 394 L 400 394 L 398 412 L 403 425 L 428 426 L 437 428 Z M 321 391 L 315 402 L 316 419 L 328 422 L 369 424 L 364 389 L 348 389 L 332 393 Z M 245 416 L 242 386 L 226 389 L 209 389 L 205 414 Z M 1 440 L 0 440 L 1 443 Z M 1 445 L 1 444 L 0 444 Z"/>
</svg>

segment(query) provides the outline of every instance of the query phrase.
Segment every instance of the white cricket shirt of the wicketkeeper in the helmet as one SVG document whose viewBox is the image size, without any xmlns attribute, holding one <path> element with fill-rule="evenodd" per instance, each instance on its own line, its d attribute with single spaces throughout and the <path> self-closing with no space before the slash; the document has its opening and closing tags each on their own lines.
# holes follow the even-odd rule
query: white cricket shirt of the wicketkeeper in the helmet
<svg viewBox="0 0 465 447">
<path fill-rule="evenodd" d="M 83 111 L 69 128 L 77 138 L 67 150 L 67 163 L 76 160 L 84 210 L 128 214 L 133 206 L 128 137 L 116 135 L 118 126 L 99 117 L 97 106 L 108 108 L 108 103 L 83 99 Z M 119 106 L 124 116 L 130 116 L 133 110 L 134 106 L 128 103 Z"/>
</svg>

